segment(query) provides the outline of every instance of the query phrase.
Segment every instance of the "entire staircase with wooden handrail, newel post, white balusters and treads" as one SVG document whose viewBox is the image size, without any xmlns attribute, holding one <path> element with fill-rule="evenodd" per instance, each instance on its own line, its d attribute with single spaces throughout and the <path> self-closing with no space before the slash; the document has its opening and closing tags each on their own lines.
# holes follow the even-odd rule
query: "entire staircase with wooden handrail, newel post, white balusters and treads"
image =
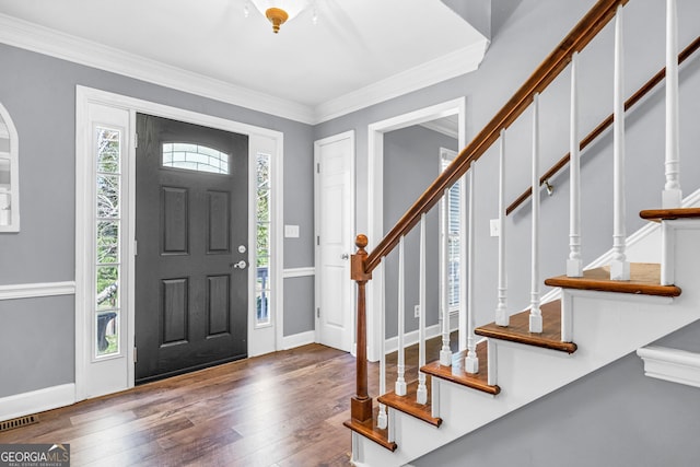
<svg viewBox="0 0 700 467">
<path fill-rule="evenodd" d="M 470 433 L 538 398 L 541 398 L 597 369 L 628 355 L 649 343 L 700 319 L 700 191 L 681 201 L 678 183 L 677 143 L 666 144 L 666 185 L 662 192 L 662 209 L 645 210 L 641 218 L 650 225 L 627 236 L 625 232 L 625 190 L 618 173 L 625 167 L 625 105 L 618 92 L 621 78 L 616 72 L 615 114 L 607 125 L 614 126 L 616 174 L 615 222 L 612 248 L 585 270 L 581 264 L 580 207 L 581 192 L 579 151 L 593 138 L 581 140 L 576 125 L 576 82 L 572 71 L 572 135 L 570 255 L 565 275 L 539 278 L 539 197 L 532 199 L 532 302 L 529 307 L 508 316 L 502 312 L 505 302 L 505 260 L 499 248 L 499 307 L 493 323 L 475 326 L 474 303 L 464 302 L 460 314 L 459 351 L 450 351 L 448 312 L 443 307 L 443 351 L 441 359 L 424 362 L 424 316 L 421 314 L 419 345 L 422 359 L 420 372 L 404 374 L 402 337 L 399 335 L 398 378 L 394 390 L 387 390 L 385 362 L 381 361 L 381 395 L 374 400 L 368 394 L 366 372 L 366 305 L 365 287 L 373 270 L 384 277 L 384 258 L 398 254 L 399 310 L 404 310 L 404 238 L 413 227 L 421 230 L 420 310 L 425 308 L 425 213 L 436 206 L 446 190 L 463 175 L 474 177 L 472 163 L 497 141 L 504 141 L 505 130 L 527 108 L 533 112 L 533 176 L 530 194 L 539 194 L 547 178 L 539 177 L 538 166 L 538 96 L 547 85 L 573 62 L 576 55 L 611 20 L 616 36 L 622 34 L 625 0 L 599 0 L 555 51 L 542 62 L 513 98 L 494 116 L 487 127 L 455 159 L 454 163 L 428 188 L 416 203 L 371 252 L 364 248 L 368 240 L 358 236 L 358 253 L 351 262 L 351 276 L 358 283 L 358 387 L 351 399 L 351 419 L 345 424 L 352 431 L 352 459 L 358 466 L 401 466 L 445 444 Z M 677 138 L 677 47 L 675 45 L 675 0 L 667 0 L 667 66 L 666 98 L 667 139 Z M 698 42 L 698 40 L 696 40 Z M 622 52 L 616 43 L 616 57 Z M 682 56 L 682 54 L 681 54 Z M 681 59 L 685 59 L 680 57 Z M 616 67 L 617 69 L 617 67 Z M 663 77 L 663 74 L 662 74 Z M 639 100 L 640 97 L 637 96 Z M 581 141 L 581 142 L 580 142 Z M 622 141 L 618 143 L 618 141 Z M 584 144 L 585 143 L 585 144 Z M 503 150 L 501 150 L 501 165 Z M 561 167 L 559 167 L 561 168 Z M 623 172 L 622 172 L 623 173 Z M 500 241 L 505 232 L 504 217 L 512 211 L 503 200 L 503 170 L 499 189 Z M 548 174 L 550 174 L 548 172 Z M 474 178 L 470 178 L 470 189 Z M 469 200 L 474 199 L 469 194 Z M 518 202 L 522 202 L 521 199 Z M 619 205 L 619 206 L 618 206 Z M 468 259 L 474 252 L 474 209 L 466 219 L 464 242 Z M 464 225 L 464 223 L 463 223 Z M 443 240 L 446 242 L 446 240 Z M 398 252 L 395 247 L 398 246 Z M 657 258 L 661 258 L 658 262 Z M 656 261 L 656 262 L 654 262 Z M 465 260 L 470 267 L 471 261 Z M 607 264 L 606 264 L 607 262 Z M 472 290 L 476 271 L 467 269 L 468 290 Z M 542 280 L 544 279 L 544 280 Z M 539 284 L 556 288 L 544 297 Z M 385 319 L 380 315 L 380 319 Z M 399 320 L 399 326 L 401 322 Z M 383 332 L 383 327 L 382 327 Z M 384 351 L 381 352 L 384 355 Z M 420 353 L 419 353 L 420 354 Z"/>
</svg>

